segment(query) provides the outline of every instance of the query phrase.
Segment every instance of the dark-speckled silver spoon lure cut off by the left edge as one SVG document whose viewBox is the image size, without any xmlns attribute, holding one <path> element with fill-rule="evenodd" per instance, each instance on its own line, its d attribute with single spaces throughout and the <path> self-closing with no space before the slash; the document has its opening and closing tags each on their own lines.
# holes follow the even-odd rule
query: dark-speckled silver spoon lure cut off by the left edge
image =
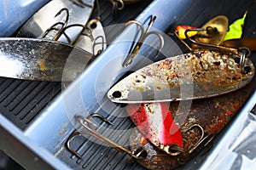
<svg viewBox="0 0 256 170">
<path fill-rule="evenodd" d="M 29 38 L 0 39 L 0 77 L 73 81 L 84 71 L 90 59 L 91 54 L 61 42 Z"/>
</svg>

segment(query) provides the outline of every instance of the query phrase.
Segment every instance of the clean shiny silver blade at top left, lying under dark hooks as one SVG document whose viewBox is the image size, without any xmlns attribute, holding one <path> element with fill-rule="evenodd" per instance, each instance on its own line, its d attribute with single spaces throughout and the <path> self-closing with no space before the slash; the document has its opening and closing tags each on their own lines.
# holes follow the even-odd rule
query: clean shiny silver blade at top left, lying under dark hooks
<svg viewBox="0 0 256 170">
<path fill-rule="evenodd" d="M 32 37 L 41 38 L 44 31 L 49 29 L 55 23 L 63 21 L 65 15 L 55 17 L 61 8 L 67 8 L 69 11 L 69 20 L 67 26 L 73 24 L 85 25 L 90 18 L 94 6 L 94 0 L 52 0 L 43 8 L 40 8 L 36 14 L 32 16 L 30 20 L 26 21 L 26 24 L 21 27 L 17 34 L 17 37 Z M 67 31 L 68 37 L 73 39 L 81 31 L 81 27 L 75 27 Z M 50 35 L 47 38 L 52 39 L 55 35 Z M 67 42 L 65 37 L 59 39 L 61 42 Z"/>
</svg>

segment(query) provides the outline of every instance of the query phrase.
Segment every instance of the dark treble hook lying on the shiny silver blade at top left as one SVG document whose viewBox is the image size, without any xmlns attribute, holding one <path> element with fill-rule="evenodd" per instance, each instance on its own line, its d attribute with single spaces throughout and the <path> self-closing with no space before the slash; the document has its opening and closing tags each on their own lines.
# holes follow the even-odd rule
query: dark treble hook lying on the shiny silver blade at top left
<svg viewBox="0 0 256 170">
<path fill-rule="evenodd" d="M 69 20 L 69 11 L 68 11 L 68 9 L 67 8 L 61 8 L 61 10 L 57 13 L 57 14 L 55 14 L 55 17 L 57 17 L 58 15 L 60 15 L 62 12 L 66 12 L 66 19 L 65 19 L 65 21 L 64 21 L 64 23 L 63 22 L 57 22 L 57 23 L 55 23 L 53 26 L 50 26 L 46 31 L 44 31 L 44 34 L 43 34 L 43 38 L 44 37 L 46 37 L 46 35 L 47 34 L 49 34 L 49 31 L 57 31 L 57 30 L 59 30 L 58 32 L 57 32 L 57 34 L 55 35 L 55 37 L 53 37 L 53 41 L 57 41 L 60 37 L 61 37 L 61 35 L 62 35 L 62 32 L 63 32 L 63 30 L 66 28 L 66 26 L 67 26 L 67 22 L 68 22 L 68 20 Z M 61 29 L 57 29 L 57 28 L 55 28 L 55 26 L 58 26 L 58 25 L 61 25 Z"/>
</svg>

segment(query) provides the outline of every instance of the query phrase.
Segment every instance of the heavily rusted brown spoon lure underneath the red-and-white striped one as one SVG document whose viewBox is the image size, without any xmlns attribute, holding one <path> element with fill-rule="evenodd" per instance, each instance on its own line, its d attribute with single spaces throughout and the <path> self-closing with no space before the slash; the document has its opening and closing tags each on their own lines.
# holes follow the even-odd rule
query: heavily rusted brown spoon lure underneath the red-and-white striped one
<svg viewBox="0 0 256 170">
<path fill-rule="evenodd" d="M 183 149 L 188 151 L 193 149 L 197 141 L 201 138 L 201 132 L 198 128 L 192 128 L 187 131 L 189 127 L 195 124 L 200 125 L 204 130 L 205 136 L 215 136 L 236 116 L 236 113 L 247 101 L 247 98 L 255 90 L 255 87 L 255 78 L 253 78 L 253 81 L 248 83 L 247 86 L 233 93 L 209 99 L 194 99 L 191 101 L 192 104 L 187 112 L 178 109 L 180 105 L 179 101 L 171 102 L 169 109 L 172 117 L 179 124 L 183 133 Z M 159 104 L 148 105 L 154 107 L 154 105 Z M 183 120 L 184 117 L 185 120 Z M 135 120 L 132 121 L 136 122 Z M 190 158 L 203 150 L 206 147 L 204 144 L 207 144 L 207 141 L 196 147 L 190 153 Z M 168 155 L 160 146 L 154 145 L 151 141 L 146 140 L 137 131 L 131 132 L 130 145 L 131 150 L 143 148 L 147 151 L 148 155 L 144 159 L 137 161 L 148 169 L 173 169 L 183 165 L 177 161 L 176 156 Z"/>
</svg>

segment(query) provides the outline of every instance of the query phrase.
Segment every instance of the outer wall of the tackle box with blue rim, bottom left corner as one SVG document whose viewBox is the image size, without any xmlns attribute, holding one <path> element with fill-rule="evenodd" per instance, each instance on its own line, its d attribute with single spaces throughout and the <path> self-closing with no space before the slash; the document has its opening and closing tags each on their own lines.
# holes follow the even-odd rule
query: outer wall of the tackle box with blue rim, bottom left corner
<svg viewBox="0 0 256 170">
<path fill-rule="evenodd" d="M 23 167 L 30 169 L 69 169 L 48 150 L 24 135 L 19 127 L 0 114 L 0 149 Z"/>
</svg>

